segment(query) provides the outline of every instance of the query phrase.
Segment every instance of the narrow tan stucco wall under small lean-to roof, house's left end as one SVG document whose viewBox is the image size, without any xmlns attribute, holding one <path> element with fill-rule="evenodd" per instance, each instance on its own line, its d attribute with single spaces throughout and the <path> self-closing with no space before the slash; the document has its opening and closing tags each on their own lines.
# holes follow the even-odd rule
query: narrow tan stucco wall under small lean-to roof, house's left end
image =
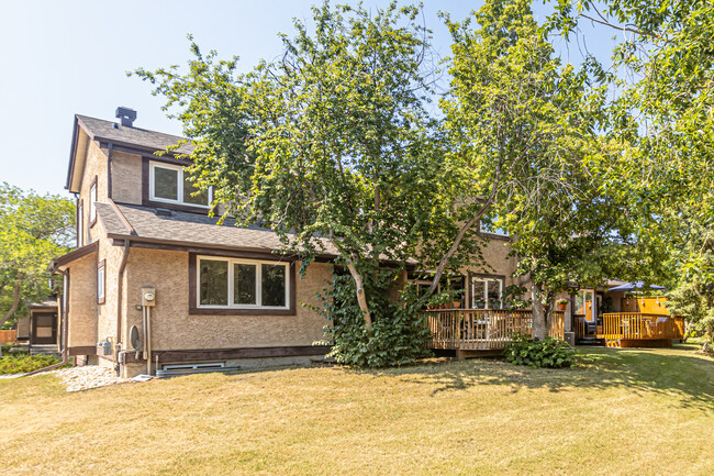
<svg viewBox="0 0 714 476">
<path fill-rule="evenodd" d="M 70 347 L 97 344 L 97 254 L 79 258 L 69 266 Z"/>
</svg>

